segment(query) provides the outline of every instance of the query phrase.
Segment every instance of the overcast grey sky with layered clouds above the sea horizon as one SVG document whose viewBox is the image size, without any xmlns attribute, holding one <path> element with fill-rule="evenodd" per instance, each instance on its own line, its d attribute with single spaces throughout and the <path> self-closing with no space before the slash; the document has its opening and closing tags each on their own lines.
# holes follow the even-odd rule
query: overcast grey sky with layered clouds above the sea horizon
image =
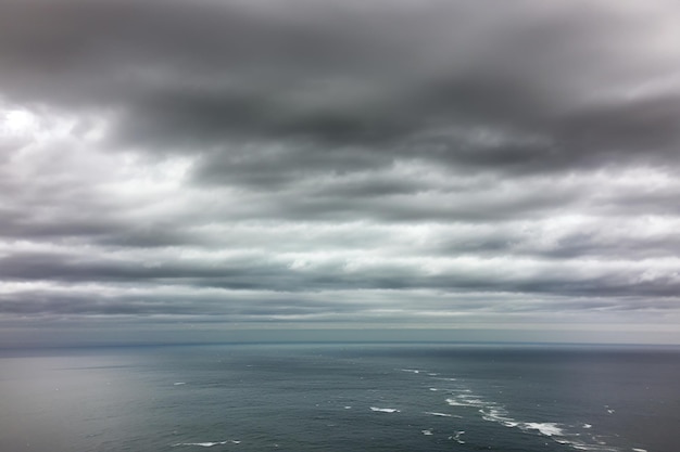
<svg viewBox="0 0 680 452">
<path fill-rule="evenodd" d="M 4 0 L 0 344 L 680 344 L 675 0 Z"/>
</svg>

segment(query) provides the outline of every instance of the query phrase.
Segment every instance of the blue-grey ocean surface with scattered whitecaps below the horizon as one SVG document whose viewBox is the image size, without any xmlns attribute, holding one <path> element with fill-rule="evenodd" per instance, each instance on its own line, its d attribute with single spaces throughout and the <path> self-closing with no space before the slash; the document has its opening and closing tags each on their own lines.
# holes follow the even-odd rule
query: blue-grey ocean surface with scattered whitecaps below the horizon
<svg viewBox="0 0 680 452">
<path fill-rule="evenodd" d="M 0 352 L 0 451 L 680 451 L 680 350 Z"/>
</svg>

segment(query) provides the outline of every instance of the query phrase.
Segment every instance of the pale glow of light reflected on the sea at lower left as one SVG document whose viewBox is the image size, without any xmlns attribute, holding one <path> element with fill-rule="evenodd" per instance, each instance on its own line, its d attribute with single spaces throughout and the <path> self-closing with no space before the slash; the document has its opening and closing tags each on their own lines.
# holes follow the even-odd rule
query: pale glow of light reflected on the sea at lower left
<svg viewBox="0 0 680 452">
<path fill-rule="evenodd" d="M 88 438 L 96 443 L 97 437 L 129 431 L 130 413 L 150 393 L 142 375 L 127 372 L 135 361 L 89 353 L 2 359 L 0 450 L 67 451 Z"/>
</svg>

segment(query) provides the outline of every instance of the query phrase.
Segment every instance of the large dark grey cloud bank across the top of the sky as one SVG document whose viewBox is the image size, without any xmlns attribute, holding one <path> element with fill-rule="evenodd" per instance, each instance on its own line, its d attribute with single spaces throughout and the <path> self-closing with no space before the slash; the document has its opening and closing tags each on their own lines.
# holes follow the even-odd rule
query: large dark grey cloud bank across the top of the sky
<svg viewBox="0 0 680 452">
<path fill-rule="evenodd" d="M 265 171 L 414 154 L 518 171 L 676 155 L 677 92 L 616 94 L 677 74 L 670 43 L 652 47 L 654 16 L 515 1 L 501 17 L 469 3 L 9 2 L 4 91 L 113 108 L 118 139 L 198 146 L 213 181 L 221 167 L 248 169 L 242 154 Z M 589 99 L 607 89 L 612 99 Z M 306 145 L 259 150 L 281 138 Z M 235 139 L 253 143 L 239 152 Z"/>
</svg>

